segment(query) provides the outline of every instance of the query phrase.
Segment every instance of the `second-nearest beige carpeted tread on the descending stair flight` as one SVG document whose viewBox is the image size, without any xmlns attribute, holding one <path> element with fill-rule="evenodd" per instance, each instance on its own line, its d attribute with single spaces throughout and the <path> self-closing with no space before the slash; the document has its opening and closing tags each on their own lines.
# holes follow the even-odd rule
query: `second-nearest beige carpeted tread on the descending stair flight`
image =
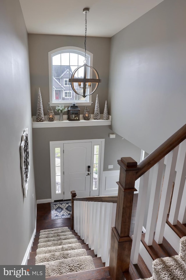
<svg viewBox="0 0 186 280">
<path fill-rule="evenodd" d="M 77 258 L 82 256 L 87 256 L 87 251 L 85 249 L 55 252 L 36 256 L 35 264 L 40 262 L 51 262 L 55 260 Z"/>
</svg>

